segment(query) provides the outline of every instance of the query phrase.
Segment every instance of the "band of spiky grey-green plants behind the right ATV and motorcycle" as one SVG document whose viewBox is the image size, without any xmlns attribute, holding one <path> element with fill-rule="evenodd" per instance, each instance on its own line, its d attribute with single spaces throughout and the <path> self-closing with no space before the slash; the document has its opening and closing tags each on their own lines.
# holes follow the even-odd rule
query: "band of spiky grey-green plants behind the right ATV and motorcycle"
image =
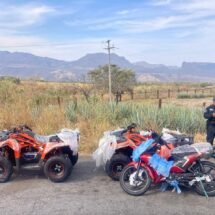
<svg viewBox="0 0 215 215">
<path fill-rule="evenodd" d="M 158 109 L 155 105 L 132 103 L 110 105 L 107 102 L 79 102 L 76 109 L 71 107 L 73 105 L 69 104 L 66 109 L 66 116 L 70 121 L 74 120 L 73 116 L 78 116 L 79 120 L 108 122 L 113 127 L 136 122 L 142 129 L 152 128 L 159 131 L 163 127 L 191 134 L 203 133 L 205 130 L 205 121 L 200 108 L 164 105 L 162 109 Z"/>
</svg>

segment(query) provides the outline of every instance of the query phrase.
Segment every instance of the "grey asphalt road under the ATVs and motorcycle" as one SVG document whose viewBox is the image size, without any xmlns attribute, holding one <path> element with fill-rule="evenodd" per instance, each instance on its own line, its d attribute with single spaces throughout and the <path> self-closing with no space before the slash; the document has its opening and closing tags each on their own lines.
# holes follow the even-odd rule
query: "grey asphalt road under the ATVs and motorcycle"
<svg viewBox="0 0 215 215">
<path fill-rule="evenodd" d="M 118 182 L 95 170 L 90 157 L 81 157 L 65 183 L 52 183 L 37 172 L 23 172 L 0 184 L 0 214 L 215 214 L 215 197 L 206 199 L 183 190 L 182 194 L 153 188 L 144 196 L 123 192 Z"/>
</svg>

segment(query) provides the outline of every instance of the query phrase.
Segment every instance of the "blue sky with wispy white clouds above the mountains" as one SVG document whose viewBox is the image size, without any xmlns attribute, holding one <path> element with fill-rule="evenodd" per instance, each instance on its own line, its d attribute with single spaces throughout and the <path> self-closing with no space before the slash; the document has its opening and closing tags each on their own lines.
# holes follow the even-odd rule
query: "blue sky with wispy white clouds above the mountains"
<svg viewBox="0 0 215 215">
<path fill-rule="evenodd" d="M 0 1 L 0 50 L 75 60 L 107 39 L 132 62 L 215 62 L 215 0 Z"/>
</svg>

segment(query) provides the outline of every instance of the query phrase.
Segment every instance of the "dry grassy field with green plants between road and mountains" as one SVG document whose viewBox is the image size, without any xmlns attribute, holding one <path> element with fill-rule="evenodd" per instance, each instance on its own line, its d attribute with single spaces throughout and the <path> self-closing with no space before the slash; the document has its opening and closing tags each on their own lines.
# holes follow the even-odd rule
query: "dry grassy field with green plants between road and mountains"
<svg viewBox="0 0 215 215">
<path fill-rule="evenodd" d="M 135 92 L 145 90 L 178 90 L 202 87 L 198 84 L 145 84 L 137 85 Z M 205 139 L 205 120 L 202 104 L 209 105 L 211 97 L 173 97 L 158 99 L 129 99 L 123 95 L 122 102 L 108 102 L 108 95 L 96 90 L 86 96 L 86 84 L 49 83 L 38 81 L 0 81 L 0 128 L 28 124 L 40 134 L 51 134 L 60 128 L 79 128 L 81 152 L 92 152 L 105 130 L 136 122 L 140 129 L 163 127 L 179 129 L 195 135 L 196 140 Z M 197 94 L 198 95 L 198 94 Z"/>
</svg>

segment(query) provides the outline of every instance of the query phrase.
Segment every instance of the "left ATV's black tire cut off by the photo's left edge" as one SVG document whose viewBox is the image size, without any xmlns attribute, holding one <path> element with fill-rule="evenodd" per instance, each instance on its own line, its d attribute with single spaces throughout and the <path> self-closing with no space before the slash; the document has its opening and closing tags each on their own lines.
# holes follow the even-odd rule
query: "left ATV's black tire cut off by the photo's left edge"
<svg viewBox="0 0 215 215">
<path fill-rule="evenodd" d="M 7 182 L 12 173 L 12 163 L 7 158 L 0 156 L 0 183 Z"/>
</svg>

